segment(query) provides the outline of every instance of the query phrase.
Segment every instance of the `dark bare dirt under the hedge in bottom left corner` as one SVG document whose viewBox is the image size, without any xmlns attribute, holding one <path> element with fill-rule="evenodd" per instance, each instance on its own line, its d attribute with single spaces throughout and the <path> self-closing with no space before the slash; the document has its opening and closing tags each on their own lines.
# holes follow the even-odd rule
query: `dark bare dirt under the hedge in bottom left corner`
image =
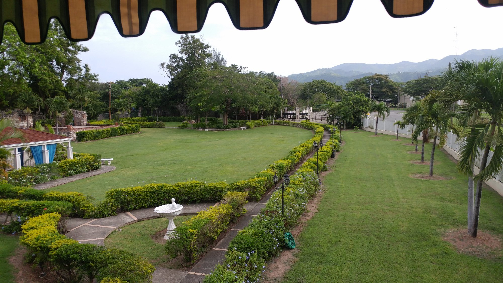
<svg viewBox="0 0 503 283">
<path fill-rule="evenodd" d="M 31 264 L 25 264 L 24 255 L 28 251 L 25 247 L 20 246 L 16 249 L 16 253 L 9 258 L 9 263 L 14 266 L 17 273 L 14 274 L 17 283 L 53 283 L 57 282 L 52 272 L 42 270 L 40 267 L 32 267 Z M 46 273 L 43 273 L 46 272 Z"/>
</svg>

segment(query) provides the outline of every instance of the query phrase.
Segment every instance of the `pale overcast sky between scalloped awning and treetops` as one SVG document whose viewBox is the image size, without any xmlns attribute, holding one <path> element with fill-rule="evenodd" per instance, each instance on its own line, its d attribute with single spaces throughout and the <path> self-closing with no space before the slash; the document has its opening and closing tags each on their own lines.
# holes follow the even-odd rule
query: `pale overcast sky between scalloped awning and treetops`
<svg viewBox="0 0 503 283">
<path fill-rule="evenodd" d="M 476 0 L 436 0 L 422 16 L 396 19 L 378 0 L 355 0 L 343 22 L 311 25 L 294 0 L 282 0 L 267 29 L 240 31 L 217 3 L 195 35 L 219 49 L 228 64 L 288 76 L 341 63 L 441 59 L 455 54 L 456 46 L 458 54 L 500 48 L 502 17 L 503 7 L 484 8 Z M 150 78 L 166 84 L 159 63 L 178 52 L 179 38 L 159 11 L 136 38 L 121 37 L 110 16 L 102 15 L 94 37 L 82 42 L 89 52 L 80 58 L 100 81 Z"/>
</svg>

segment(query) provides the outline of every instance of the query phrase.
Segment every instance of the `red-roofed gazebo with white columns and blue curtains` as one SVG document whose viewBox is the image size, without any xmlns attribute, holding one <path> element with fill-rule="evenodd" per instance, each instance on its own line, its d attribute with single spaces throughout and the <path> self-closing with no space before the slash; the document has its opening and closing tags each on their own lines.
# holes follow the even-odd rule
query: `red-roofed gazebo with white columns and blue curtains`
<svg viewBox="0 0 503 283">
<path fill-rule="evenodd" d="M 33 129 L 16 128 L 21 131 L 24 140 L 21 138 L 9 138 L 0 144 L 0 148 L 12 150 L 14 153 L 14 168 L 19 169 L 23 165 L 21 154 L 26 148 L 30 148 L 36 164 L 52 163 L 56 152 L 56 145 L 68 143 L 66 148 L 67 158 L 73 159 L 73 148 L 71 147 L 71 137 L 57 135 L 53 133 L 37 131 Z M 12 131 L 11 127 L 6 127 L 0 132 L 0 137 Z"/>
</svg>

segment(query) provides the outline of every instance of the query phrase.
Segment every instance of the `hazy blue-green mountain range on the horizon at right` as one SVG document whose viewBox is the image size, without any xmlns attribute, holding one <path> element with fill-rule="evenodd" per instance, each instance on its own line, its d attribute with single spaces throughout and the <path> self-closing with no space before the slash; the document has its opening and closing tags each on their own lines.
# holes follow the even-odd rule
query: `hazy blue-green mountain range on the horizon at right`
<svg viewBox="0 0 503 283">
<path fill-rule="evenodd" d="M 440 60 L 428 59 L 417 63 L 409 61 L 401 61 L 394 64 L 344 63 L 331 68 L 322 68 L 307 73 L 293 74 L 288 76 L 288 78 L 298 82 L 325 80 L 344 86 L 349 81 L 372 76 L 374 74 L 386 74 L 395 82 L 407 82 L 426 75 L 441 75 L 449 66 L 449 62 L 454 62 L 456 59 L 479 61 L 488 56 L 503 57 L 503 48 L 494 50 L 471 49 L 461 55 L 449 55 Z"/>
</svg>

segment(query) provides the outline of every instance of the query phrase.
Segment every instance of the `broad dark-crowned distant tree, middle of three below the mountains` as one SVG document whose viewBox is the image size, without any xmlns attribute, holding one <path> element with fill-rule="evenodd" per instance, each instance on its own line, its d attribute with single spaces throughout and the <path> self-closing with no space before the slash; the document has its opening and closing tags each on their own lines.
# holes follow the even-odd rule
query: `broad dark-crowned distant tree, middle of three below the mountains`
<svg viewBox="0 0 503 283">
<path fill-rule="evenodd" d="M 382 101 L 386 98 L 394 99 L 399 94 L 399 86 L 391 81 L 388 75 L 375 74 L 348 82 L 347 91 L 369 93 L 372 88 L 372 99 Z"/>
</svg>

